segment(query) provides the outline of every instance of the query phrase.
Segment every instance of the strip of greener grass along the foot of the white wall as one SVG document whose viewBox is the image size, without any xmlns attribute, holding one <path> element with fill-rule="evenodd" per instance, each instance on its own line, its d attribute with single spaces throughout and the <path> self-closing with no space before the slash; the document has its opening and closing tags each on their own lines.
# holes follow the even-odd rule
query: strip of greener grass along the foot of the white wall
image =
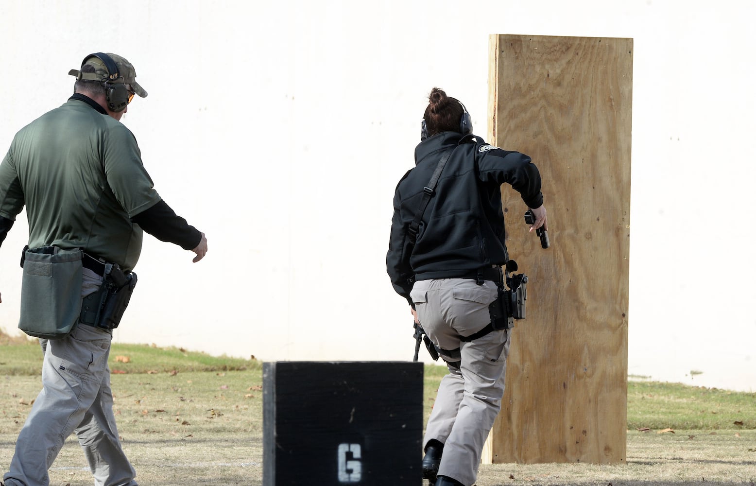
<svg viewBox="0 0 756 486">
<path fill-rule="evenodd" d="M 2 336 L 0 336 L 2 337 Z M 5 336 L 7 338 L 7 336 Z M 128 361 L 128 362 L 124 362 Z M 42 352 L 33 340 L 0 340 L 0 376 L 39 376 Z M 249 371 L 262 381 L 262 363 L 215 357 L 182 348 L 113 344 L 110 370 L 114 375 Z M 446 368 L 425 367 L 424 416 L 428 419 L 438 383 Z M 724 430 L 756 429 L 756 393 L 730 392 L 677 383 L 627 382 L 627 429 Z"/>
</svg>

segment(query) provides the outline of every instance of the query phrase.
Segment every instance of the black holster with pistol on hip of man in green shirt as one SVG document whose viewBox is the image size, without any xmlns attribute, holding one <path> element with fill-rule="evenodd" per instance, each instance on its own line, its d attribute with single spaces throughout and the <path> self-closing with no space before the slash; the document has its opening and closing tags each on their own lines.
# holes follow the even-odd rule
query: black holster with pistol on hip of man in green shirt
<svg viewBox="0 0 756 486">
<path fill-rule="evenodd" d="M 86 296 L 82 302 L 79 322 L 102 329 L 115 329 L 121 322 L 136 285 L 137 274 L 124 274 L 118 265 L 107 265 L 104 280 L 98 291 Z"/>
</svg>

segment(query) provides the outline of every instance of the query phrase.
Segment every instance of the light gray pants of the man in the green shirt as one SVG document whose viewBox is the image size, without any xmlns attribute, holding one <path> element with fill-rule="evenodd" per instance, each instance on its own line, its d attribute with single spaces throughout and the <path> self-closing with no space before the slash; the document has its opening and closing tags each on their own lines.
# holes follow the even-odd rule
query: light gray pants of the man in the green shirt
<svg viewBox="0 0 756 486">
<path fill-rule="evenodd" d="M 82 298 L 102 279 L 84 269 Z M 110 392 L 112 332 L 77 324 L 65 339 L 40 339 L 42 392 L 34 401 L 16 441 L 6 486 L 48 486 L 48 469 L 64 441 L 76 433 L 95 486 L 136 486 L 136 472 L 118 438 Z"/>
</svg>

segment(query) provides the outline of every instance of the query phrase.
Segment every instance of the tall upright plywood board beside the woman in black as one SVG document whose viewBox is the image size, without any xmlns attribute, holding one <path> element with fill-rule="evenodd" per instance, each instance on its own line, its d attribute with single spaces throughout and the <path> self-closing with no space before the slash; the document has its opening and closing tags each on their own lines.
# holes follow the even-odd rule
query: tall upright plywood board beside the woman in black
<svg viewBox="0 0 756 486">
<path fill-rule="evenodd" d="M 505 184 L 528 317 L 484 460 L 623 463 L 633 40 L 494 35 L 490 58 L 488 141 L 541 171 L 551 247 Z"/>
</svg>

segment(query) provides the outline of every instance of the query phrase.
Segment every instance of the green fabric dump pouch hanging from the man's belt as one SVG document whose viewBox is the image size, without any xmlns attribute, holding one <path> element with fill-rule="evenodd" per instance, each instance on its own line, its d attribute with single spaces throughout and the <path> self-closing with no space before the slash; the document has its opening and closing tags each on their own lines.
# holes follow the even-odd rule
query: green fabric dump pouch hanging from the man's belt
<svg viewBox="0 0 756 486">
<path fill-rule="evenodd" d="M 81 249 L 40 246 L 23 252 L 20 330 L 38 338 L 62 339 L 78 322 L 81 305 Z"/>
</svg>

